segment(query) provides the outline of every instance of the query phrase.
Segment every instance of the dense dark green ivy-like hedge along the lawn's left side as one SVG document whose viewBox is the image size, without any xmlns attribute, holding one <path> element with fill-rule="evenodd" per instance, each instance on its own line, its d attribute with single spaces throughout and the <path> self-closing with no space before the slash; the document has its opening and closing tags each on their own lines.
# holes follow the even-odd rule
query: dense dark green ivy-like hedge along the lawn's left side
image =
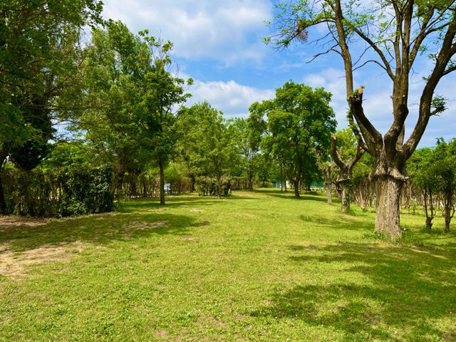
<svg viewBox="0 0 456 342">
<path fill-rule="evenodd" d="M 113 210 L 113 168 L 61 167 L 30 172 L 9 165 L 2 172 L 12 214 L 66 217 Z"/>
</svg>

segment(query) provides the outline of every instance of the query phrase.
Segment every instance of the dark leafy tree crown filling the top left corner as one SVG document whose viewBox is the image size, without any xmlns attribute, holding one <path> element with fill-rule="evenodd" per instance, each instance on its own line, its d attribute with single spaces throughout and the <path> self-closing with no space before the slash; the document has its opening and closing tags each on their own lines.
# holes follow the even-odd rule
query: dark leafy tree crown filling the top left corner
<svg viewBox="0 0 456 342">
<path fill-rule="evenodd" d="M 81 30 L 100 23 L 101 6 L 98 0 L 0 2 L 0 169 L 11 147 L 41 140 L 34 121 L 71 109 L 66 95 L 78 78 Z"/>
</svg>

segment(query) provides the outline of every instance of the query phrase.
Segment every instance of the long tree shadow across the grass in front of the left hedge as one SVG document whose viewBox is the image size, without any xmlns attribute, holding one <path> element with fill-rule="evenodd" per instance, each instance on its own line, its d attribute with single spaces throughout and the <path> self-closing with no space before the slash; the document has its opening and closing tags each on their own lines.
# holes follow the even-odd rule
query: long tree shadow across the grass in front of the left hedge
<svg viewBox="0 0 456 342">
<path fill-rule="evenodd" d="M 190 234 L 192 228 L 207 224 L 209 222 L 204 220 L 167 212 L 113 212 L 59 219 L 36 227 L 2 227 L 0 245 L 6 244 L 8 249 L 16 252 L 72 242 L 106 245 L 115 240 L 140 239 L 152 235 Z"/>
</svg>

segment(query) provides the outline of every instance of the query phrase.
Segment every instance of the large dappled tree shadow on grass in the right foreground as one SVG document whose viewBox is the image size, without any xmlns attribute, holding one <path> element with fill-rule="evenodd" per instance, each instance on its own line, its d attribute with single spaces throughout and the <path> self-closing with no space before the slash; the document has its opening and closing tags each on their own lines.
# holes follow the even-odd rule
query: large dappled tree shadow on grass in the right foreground
<svg viewBox="0 0 456 342">
<path fill-rule="evenodd" d="M 454 321 L 437 322 L 456 310 L 454 250 L 356 243 L 289 249 L 291 262 L 335 263 L 338 274 L 321 286 L 276 291 L 252 316 L 332 326 L 345 341 L 456 340 Z M 362 275 L 361 284 L 359 276 L 351 281 L 353 272 Z"/>
</svg>

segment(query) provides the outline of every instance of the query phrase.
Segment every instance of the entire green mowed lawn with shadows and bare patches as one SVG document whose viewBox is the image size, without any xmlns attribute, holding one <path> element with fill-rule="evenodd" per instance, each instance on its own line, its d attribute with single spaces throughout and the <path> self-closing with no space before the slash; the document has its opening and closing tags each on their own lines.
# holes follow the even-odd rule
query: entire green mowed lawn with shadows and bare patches
<svg viewBox="0 0 456 342">
<path fill-rule="evenodd" d="M 167 203 L 0 227 L 0 341 L 456 341 L 441 217 L 393 244 L 323 195 Z"/>
</svg>

